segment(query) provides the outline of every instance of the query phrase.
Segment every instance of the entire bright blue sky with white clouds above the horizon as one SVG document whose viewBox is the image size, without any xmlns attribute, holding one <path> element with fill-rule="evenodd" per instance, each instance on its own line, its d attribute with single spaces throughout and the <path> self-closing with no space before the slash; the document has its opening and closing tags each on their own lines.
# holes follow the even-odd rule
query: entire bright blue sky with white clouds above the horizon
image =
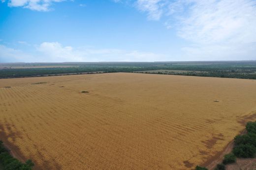
<svg viewBox="0 0 256 170">
<path fill-rule="evenodd" d="M 0 62 L 256 60 L 256 0 L 0 0 Z"/>
</svg>

